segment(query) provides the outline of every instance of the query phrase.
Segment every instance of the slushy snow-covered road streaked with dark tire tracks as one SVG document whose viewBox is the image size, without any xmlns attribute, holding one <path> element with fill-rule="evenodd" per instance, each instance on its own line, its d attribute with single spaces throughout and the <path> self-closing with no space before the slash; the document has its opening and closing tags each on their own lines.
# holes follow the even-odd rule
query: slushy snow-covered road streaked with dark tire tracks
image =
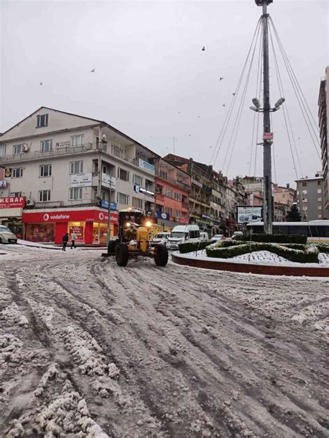
<svg viewBox="0 0 329 438">
<path fill-rule="evenodd" d="M 328 280 L 1 253 L 1 437 L 328 437 Z"/>
</svg>

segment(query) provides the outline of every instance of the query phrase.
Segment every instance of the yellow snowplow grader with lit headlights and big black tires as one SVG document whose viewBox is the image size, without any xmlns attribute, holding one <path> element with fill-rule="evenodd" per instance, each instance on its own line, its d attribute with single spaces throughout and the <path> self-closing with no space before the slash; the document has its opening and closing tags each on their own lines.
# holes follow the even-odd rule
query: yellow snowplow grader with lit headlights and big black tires
<svg viewBox="0 0 329 438">
<path fill-rule="evenodd" d="M 166 266 L 168 250 L 165 245 L 150 245 L 150 230 L 157 223 L 151 213 L 127 208 L 119 211 L 119 230 L 117 239 L 108 244 L 108 256 L 115 256 L 119 266 L 126 266 L 130 258 L 138 255 L 154 258 L 158 266 Z"/>
</svg>

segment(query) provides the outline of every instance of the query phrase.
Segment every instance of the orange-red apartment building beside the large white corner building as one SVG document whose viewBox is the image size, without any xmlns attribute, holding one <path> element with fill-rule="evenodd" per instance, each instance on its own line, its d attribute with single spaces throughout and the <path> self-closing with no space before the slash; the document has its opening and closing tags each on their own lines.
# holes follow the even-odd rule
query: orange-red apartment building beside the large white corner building
<svg viewBox="0 0 329 438">
<path fill-rule="evenodd" d="M 156 162 L 155 211 L 162 229 L 188 224 L 191 177 L 160 158 Z"/>
</svg>

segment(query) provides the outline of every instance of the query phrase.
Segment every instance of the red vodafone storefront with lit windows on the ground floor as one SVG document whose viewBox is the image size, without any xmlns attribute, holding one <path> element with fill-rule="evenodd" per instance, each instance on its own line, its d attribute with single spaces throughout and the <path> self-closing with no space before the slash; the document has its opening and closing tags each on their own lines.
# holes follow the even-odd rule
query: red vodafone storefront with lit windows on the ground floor
<svg viewBox="0 0 329 438">
<path fill-rule="evenodd" d="M 108 211 L 102 208 L 72 210 L 25 210 L 22 214 L 25 239 L 31 242 L 62 243 L 65 233 L 75 233 L 76 242 L 106 244 Z M 117 234 L 117 213 L 110 213 L 110 236 Z"/>
</svg>

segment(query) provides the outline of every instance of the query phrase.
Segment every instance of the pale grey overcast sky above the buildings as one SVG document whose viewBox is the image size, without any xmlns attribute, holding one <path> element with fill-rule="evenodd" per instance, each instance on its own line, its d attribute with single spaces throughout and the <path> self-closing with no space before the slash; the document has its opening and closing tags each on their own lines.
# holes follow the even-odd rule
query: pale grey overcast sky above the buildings
<svg viewBox="0 0 329 438">
<path fill-rule="evenodd" d="M 1 132 L 49 106 L 104 120 L 160 155 L 174 151 L 175 137 L 176 154 L 214 164 L 217 138 L 261 15 L 255 1 L 0 3 Z M 318 121 L 319 83 L 328 65 L 328 1 L 274 0 L 269 12 Z M 297 174 L 313 176 L 321 169 L 320 160 L 275 47 L 301 161 Z M 256 49 L 239 128 L 234 122 L 242 91 L 214 165 L 229 177 L 249 174 L 250 167 L 254 174 L 254 113 L 248 106 L 256 91 L 257 65 Z M 280 92 L 272 53 L 270 65 L 274 103 Z M 273 132 L 273 180 L 293 183 L 282 110 L 273 114 Z M 232 149 L 225 160 L 226 151 L 235 135 L 229 162 Z M 256 174 L 262 175 L 262 146 L 257 147 Z"/>
</svg>

